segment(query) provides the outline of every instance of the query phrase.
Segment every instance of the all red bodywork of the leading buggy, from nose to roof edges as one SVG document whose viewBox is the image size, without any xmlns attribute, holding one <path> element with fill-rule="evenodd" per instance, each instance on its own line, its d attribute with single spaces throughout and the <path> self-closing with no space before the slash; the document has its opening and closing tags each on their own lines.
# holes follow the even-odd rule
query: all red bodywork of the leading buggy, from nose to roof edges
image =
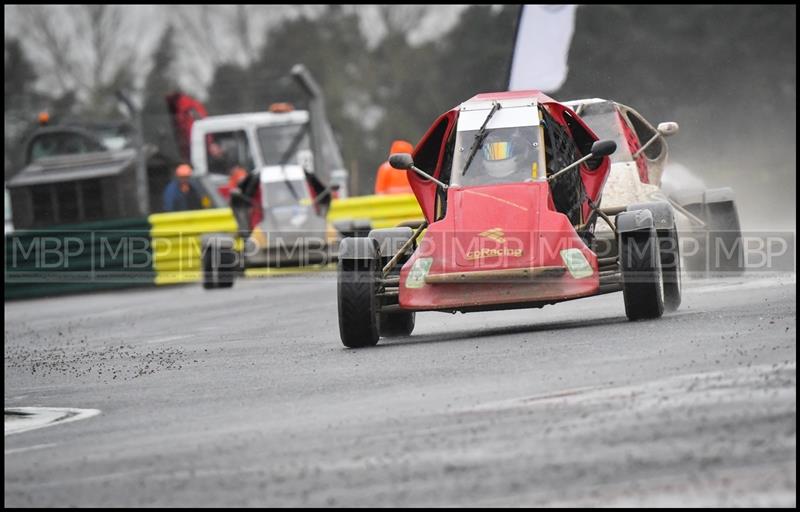
<svg viewBox="0 0 800 512">
<path fill-rule="evenodd" d="M 564 114 L 580 124 L 592 141 L 597 136 L 569 108 L 539 91 L 479 94 L 472 100 L 504 100 L 535 97 L 555 121 L 572 134 Z M 442 114 L 414 150 L 414 161 L 423 171 L 439 178 L 446 144 L 458 120 L 459 109 Z M 574 123 L 573 123 L 574 125 Z M 583 137 L 584 143 L 586 135 Z M 591 142 L 591 141 L 590 141 Z M 598 201 L 610 168 L 609 158 L 594 170 L 580 166 L 586 195 Z M 508 183 L 447 190 L 447 209 L 436 220 L 437 186 L 409 172 L 409 182 L 430 224 L 420 247 L 403 265 L 399 303 L 409 310 L 470 310 L 514 304 L 547 304 L 597 293 L 599 274 L 596 255 L 578 236 L 566 215 L 556 211 L 550 185 L 544 181 Z M 583 202 L 588 218 L 588 201 Z M 566 270 L 561 251 L 577 249 L 591 272 L 576 278 Z M 407 286 L 415 262 L 430 258 L 428 276 L 434 279 L 489 271 L 552 268 L 558 275 L 508 279 L 491 274 L 484 282 L 437 282 Z M 472 274 L 473 276 L 478 274 Z"/>
</svg>

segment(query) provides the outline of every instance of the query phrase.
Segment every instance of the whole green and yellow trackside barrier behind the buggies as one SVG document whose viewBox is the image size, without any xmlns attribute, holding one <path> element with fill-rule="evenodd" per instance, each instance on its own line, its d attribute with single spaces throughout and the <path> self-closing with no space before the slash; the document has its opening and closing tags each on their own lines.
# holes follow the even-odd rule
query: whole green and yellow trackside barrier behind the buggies
<svg viewBox="0 0 800 512">
<path fill-rule="evenodd" d="M 335 199 L 328 221 L 421 220 L 413 194 Z M 21 230 L 6 236 L 5 298 L 199 282 L 201 238 L 236 233 L 230 208 Z"/>
</svg>

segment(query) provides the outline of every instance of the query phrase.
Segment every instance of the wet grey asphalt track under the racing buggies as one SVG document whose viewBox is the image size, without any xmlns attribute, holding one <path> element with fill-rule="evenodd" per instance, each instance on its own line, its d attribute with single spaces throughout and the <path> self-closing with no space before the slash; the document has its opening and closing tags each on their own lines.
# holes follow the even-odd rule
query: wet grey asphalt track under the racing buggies
<svg viewBox="0 0 800 512">
<path fill-rule="evenodd" d="M 427 313 L 339 342 L 307 275 L 5 305 L 5 506 L 796 504 L 794 275 Z"/>
</svg>

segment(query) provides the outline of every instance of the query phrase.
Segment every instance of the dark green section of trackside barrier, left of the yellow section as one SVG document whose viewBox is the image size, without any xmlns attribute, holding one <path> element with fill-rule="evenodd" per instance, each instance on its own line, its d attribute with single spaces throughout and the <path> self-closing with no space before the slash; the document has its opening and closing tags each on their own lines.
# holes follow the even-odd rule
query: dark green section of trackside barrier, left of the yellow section
<svg viewBox="0 0 800 512">
<path fill-rule="evenodd" d="M 5 237 L 6 300 L 150 286 L 150 223 L 119 219 L 19 230 Z"/>
</svg>

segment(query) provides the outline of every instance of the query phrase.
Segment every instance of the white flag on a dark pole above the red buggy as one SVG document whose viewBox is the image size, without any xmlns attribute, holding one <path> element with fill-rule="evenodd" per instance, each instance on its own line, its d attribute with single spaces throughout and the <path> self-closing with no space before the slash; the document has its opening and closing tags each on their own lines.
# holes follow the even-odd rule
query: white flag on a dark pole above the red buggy
<svg viewBox="0 0 800 512">
<path fill-rule="evenodd" d="M 525 5 L 511 57 L 508 90 L 553 92 L 567 79 L 575 5 Z"/>
</svg>

